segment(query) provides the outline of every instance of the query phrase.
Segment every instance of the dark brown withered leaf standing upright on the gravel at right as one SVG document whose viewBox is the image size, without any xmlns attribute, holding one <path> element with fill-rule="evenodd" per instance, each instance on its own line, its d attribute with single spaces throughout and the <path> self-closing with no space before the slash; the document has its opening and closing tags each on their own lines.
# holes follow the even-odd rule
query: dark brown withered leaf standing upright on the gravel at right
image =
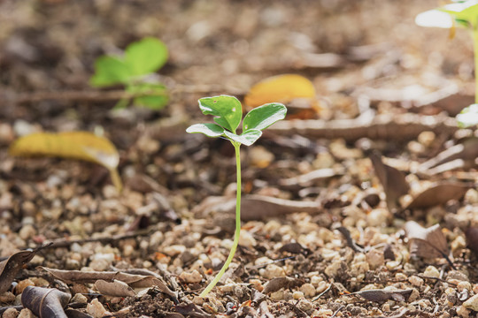
<svg viewBox="0 0 478 318">
<path fill-rule="evenodd" d="M 370 160 L 374 165 L 375 174 L 383 187 L 389 210 L 398 206 L 398 199 L 408 193 L 410 186 L 405 180 L 405 173 L 382 163 L 381 155 L 371 154 Z"/>
</svg>

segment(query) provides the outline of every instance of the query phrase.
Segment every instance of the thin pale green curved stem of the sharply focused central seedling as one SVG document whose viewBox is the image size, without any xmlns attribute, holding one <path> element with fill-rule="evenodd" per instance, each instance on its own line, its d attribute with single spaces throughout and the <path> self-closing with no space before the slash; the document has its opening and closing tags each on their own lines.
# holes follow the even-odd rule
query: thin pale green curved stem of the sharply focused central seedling
<svg viewBox="0 0 478 318">
<path fill-rule="evenodd" d="M 203 292 L 199 295 L 199 297 L 205 297 L 209 292 L 211 292 L 212 288 L 220 281 L 220 277 L 224 275 L 226 269 L 229 267 L 229 264 L 234 258 L 235 249 L 239 244 L 239 234 L 241 232 L 241 143 L 237 141 L 231 140 L 235 148 L 235 167 L 236 167 L 236 177 L 237 177 L 237 190 L 235 193 L 235 235 L 234 235 L 234 242 L 233 246 L 231 247 L 231 251 L 229 252 L 229 256 L 227 256 L 227 260 L 220 269 L 220 272 L 214 277 L 211 283 L 207 285 Z"/>
</svg>

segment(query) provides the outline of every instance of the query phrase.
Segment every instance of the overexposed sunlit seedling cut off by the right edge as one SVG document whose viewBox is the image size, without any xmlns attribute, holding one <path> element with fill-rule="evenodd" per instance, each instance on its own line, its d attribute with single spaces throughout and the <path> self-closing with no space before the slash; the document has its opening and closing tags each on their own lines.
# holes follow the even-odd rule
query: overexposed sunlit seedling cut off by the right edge
<svg viewBox="0 0 478 318">
<path fill-rule="evenodd" d="M 478 0 L 455 1 L 443 7 L 420 13 L 415 23 L 420 27 L 443 27 L 451 29 L 465 27 L 471 31 L 474 42 L 474 104 L 466 107 L 457 116 L 459 125 L 468 127 L 478 124 Z"/>
</svg>

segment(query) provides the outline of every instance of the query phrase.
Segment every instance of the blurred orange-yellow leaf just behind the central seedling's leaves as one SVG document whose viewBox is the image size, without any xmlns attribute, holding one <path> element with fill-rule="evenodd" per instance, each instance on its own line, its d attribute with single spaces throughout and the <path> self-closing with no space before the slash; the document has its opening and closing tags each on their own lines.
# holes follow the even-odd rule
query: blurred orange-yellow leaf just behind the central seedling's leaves
<svg viewBox="0 0 478 318">
<path fill-rule="evenodd" d="M 283 74 L 258 82 L 244 97 L 244 103 L 254 108 L 267 102 L 287 103 L 297 98 L 315 99 L 315 87 L 304 76 Z"/>
</svg>

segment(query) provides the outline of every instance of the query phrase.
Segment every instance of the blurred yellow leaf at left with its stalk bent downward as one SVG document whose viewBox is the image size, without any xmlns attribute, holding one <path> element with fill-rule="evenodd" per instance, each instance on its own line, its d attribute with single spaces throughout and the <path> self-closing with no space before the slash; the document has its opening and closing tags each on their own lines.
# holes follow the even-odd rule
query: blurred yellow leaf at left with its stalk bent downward
<svg viewBox="0 0 478 318">
<path fill-rule="evenodd" d="M 15 140 L 8 149 L 10 155 L 58 156 L 103 165 L 110 171 L 112 183 L 121 190 L 116 168 L 120 155 L 110 140 L 88 132 L 32 133 Z"/>
</svg>

